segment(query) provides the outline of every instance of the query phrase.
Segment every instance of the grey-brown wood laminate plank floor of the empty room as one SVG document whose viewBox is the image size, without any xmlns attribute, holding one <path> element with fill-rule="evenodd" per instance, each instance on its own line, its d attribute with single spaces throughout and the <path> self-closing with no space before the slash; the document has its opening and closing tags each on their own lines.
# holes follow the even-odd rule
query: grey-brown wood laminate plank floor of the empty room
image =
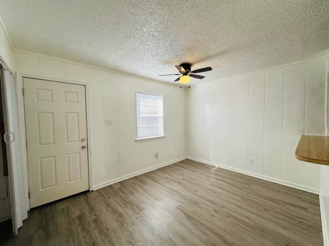
<svg viewBox="0 0 329 246">
<path fill-rule="evenodd" d="M 323 245 L 318 195 L 192 160 L 29 212 L 1 245 Z"/>
</svg>

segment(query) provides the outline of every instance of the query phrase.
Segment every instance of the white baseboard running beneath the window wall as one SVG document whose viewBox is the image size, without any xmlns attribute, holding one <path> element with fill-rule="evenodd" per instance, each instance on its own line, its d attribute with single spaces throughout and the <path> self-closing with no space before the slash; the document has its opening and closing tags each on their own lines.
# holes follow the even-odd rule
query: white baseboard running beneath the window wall
<svg viewBox="0 0 329 246">
<path fill-rule="evenodd" d="M 118 178 L 114 178 L 114 179 L 99 183 L 98 185 L 95 185 L 93 187 L 93 190 L 96 191 L 98 189 L 101 189 L 101 188 L 109 186 L 109 185 L 113 185 L 114 183 L 123 181 L 125 179 L 132 178 L 132 177 L 135 177 L 135 176 L 143 174 L 143 173 L 148 173 L 148 172 L 151 172 L 153 170 L 169 166 L 169 165 L 171 165 L 173 163 L 176 163 L 178 161 L 185 160 L 186 158 L 187 158 L 187 156 L 184 156 L 184 157 L 180 157 L 180 158 L 177 158 L 177 159 L 174 159 L 174 160 L 166 161 L 166 162 L 163 162 L 161 164 L 158 164 L 158 165 L 150 167 L 150 168 L 145 168 L 145 169 L 142 169 L 140 171 L 137 171 L 137 172 L 134 172 L 134 173 L 131 173 L 131 174 L 127 174 L 127 175 L 124 175 L 124 176 L 121 176 L 121 177 L 118 177 Z"/>
</svg>

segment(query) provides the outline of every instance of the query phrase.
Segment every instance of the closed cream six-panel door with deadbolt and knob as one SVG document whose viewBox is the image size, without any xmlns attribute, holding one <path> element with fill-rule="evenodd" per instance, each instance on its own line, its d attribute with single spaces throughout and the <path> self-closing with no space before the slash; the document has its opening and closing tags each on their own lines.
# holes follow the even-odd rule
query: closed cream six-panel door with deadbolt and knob
<svg viewBox="0 0 329 246">
<path fill-rule="evenodd" d="M 89 189 L 85 86 L 23 79 L 30 208 Z"/>
</svg>

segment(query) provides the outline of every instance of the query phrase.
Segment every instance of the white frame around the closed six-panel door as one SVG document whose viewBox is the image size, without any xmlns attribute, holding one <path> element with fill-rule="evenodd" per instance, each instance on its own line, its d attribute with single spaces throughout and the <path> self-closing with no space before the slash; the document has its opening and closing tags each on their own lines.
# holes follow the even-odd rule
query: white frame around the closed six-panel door
<svg viewBox="0 0 329 246">
<path fill-rule="evenodd" d="M 77 80 L 68 80 L 64 78 L 54 78 L 48 76 L 39 76 L 35 74 L 27 74 L 16 72 L 16 97 L 17 97 L 17 106 L 19 107 L 19 125 L 22 136 L 22 155 L 23 155 L 23 176 L 24 176 L 24 188 L 25 188 L 25 196 L 28 199 L 28 172 L 27 172 L 27 150 L 26 150 L 26 134 L 25 134 L 25 110 L 24 110 L 24 97 L 23 97 L 23 79 L 24 78 L 33 78 L 33 79 L 43 79 L 49 80 L 53 82 L 61 82 L 67 84 L 76 84 L 76 85 L 84 85 L 86 89 L 86 116 L 87 116 L 87 141 L 88 141 L 88 176 L 89 176 L 89 191 L 93 190 L 93 169 L 92 169 L 92 138 L 90 136 L 90 100 L 89 100 L 89 92 L 90 85 L 84 81 Z M 26 204 L 26 211 L 30 210 L 30 203 Z"/>
</svg>

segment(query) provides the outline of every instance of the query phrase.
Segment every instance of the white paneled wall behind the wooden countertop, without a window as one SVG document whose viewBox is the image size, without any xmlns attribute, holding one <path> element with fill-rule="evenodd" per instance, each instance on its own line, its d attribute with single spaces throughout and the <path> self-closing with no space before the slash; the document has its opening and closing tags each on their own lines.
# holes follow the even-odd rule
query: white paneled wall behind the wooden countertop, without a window
<svg viewBox="0 0 329 246">
<path fill-rule="evenodd" d="M 299 161 L 302 134 L 326 132 L 327 58 L 195 86 L 187 91 L 192 159 L 318 193 L 320 165 Z M 254 163 L 249 163 L 249 157 Z"/>
</svg>

